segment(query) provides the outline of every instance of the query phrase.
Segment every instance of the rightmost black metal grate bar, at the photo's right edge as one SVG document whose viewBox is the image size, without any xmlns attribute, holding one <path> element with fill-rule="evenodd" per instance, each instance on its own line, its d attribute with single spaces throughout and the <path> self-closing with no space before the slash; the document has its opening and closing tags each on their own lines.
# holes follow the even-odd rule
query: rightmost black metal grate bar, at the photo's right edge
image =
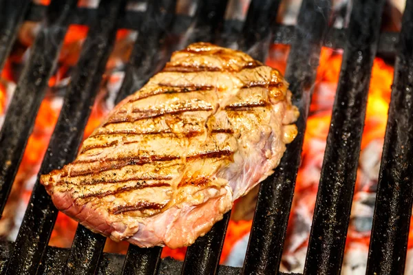
<svg viewBox="0 0 413 275">
<path fill-rule="evenodd" d="M 403 274 L 413 192 L 413 2 L 403 14 L 367 274 Z"/>
</svg>

